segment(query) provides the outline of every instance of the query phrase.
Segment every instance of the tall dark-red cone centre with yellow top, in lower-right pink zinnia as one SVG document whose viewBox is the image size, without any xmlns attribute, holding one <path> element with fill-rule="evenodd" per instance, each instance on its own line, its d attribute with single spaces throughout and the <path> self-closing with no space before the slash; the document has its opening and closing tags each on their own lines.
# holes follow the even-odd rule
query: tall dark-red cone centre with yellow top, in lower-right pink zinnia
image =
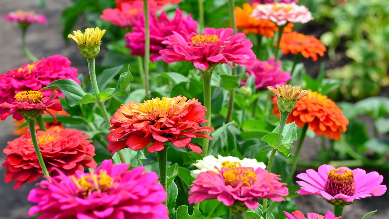
<svg viewBox="0 0 389 219">
<path fill-rule="evenodd" d="M 344 169 L 334 169 L 329 171 L 328 179 L 324 186 L 324 189 L 331 196 L 337 194 L 345 194 L 352 196 L 355 194 L 355 180 L 354 173 Z"/>
</svg>

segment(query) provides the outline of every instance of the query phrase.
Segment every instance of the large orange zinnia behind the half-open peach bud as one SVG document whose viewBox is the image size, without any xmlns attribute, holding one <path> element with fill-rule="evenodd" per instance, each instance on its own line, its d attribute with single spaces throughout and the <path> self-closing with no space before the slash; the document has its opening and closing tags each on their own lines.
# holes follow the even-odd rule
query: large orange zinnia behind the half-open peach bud
<svg viewBox="0 0 389 219">
<path fill-rule="evenodd" d="M 342 109 L 336 106 L 335 102 L 315 91 L 308 91 L 308 96 L 301 97 L 296 103 L 294 110 L 289 115 L 287 123 L 296 122 L 296 125 L 308 128 L 317 135 L 323 134 L 334 140 L 338 140 L 342 132 L 347 130 L 349 120 L 342 114 Z M 277 108 L 277 97 L 273 98 L 272 113 L 280 117 Z"/>
</svg>

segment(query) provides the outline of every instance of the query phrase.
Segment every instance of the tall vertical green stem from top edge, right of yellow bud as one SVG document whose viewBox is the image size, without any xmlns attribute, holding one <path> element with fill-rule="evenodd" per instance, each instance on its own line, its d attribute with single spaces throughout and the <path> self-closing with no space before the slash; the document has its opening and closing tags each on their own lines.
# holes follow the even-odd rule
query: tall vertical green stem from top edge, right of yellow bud
<svg viewBox="0 0 389 219">
<path fill-rule="evenodd" d="M 143 0 L 143 8 L 144 8 L 144 15 L 145 15 L 145 89 L 146 89 L 146 96 L 150 96 L 149 91 L 149 62 L 150 62 L 150 26 L 149 26 L 149 9 L 147 5 L 147 0 Z"/>
</svg>

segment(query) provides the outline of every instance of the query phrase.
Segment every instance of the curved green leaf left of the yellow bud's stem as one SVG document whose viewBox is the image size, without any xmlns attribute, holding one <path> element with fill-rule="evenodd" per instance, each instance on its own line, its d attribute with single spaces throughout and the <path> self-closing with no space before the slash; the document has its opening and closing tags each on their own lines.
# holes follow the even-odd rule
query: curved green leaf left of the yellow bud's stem
<svg viewBox="0 0 389 219">
<path fill-rule="evenodd" d="M 72 79 L 59 79 L 53 81 L 40 90 L 51 89 L 60 90 L 65 96 L 67 104 L 71 107 L 78 104 L 86 104 L 97 101 L 95 96 L 85 93 L 80 85 Z"/>
</svg>

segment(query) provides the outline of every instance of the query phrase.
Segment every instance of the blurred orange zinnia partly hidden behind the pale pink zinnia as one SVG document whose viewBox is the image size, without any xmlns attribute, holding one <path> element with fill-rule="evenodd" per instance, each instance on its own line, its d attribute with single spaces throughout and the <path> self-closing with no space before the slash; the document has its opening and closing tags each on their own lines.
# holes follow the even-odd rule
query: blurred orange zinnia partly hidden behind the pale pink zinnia
<svg viewBox="0 0 389 219">
<path fill-rule="evenodd" d="M 255 7 L 256 4 L 254 4 Z M 265 37 L 273 37 L 274 32 L 278 32 L 278 26 L 270 20 L 259 20 L 251 17 L 252 7 L 250 4 L 243 4 L 243 9 L 235 7 L 235 16 L 237 28 L 241 29 L 244 34 L 261 34 Z M 288 23 L 284 32 L 291 32 L 293 23 Z"/>
</svg>

